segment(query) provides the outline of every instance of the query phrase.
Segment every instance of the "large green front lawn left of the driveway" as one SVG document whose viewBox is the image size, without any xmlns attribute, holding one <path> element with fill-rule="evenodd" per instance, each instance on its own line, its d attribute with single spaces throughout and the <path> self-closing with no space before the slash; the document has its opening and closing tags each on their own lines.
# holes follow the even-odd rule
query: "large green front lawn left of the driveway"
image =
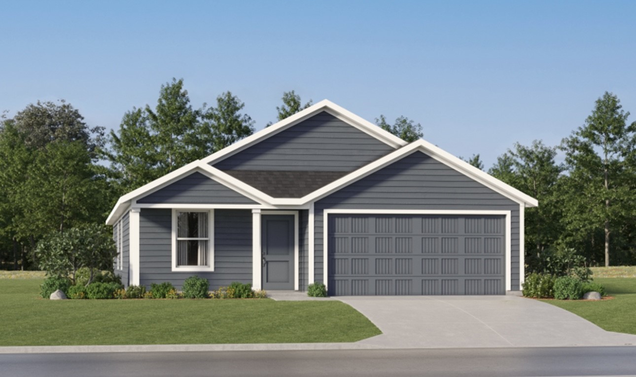
<svg viewBox="0 0 636 377">
<path fill-rule="evenodd" d="M 64 300 L 0 279 L 0 346 L 352 342 L 380 334 L 340 301 Z"/>
</svg>

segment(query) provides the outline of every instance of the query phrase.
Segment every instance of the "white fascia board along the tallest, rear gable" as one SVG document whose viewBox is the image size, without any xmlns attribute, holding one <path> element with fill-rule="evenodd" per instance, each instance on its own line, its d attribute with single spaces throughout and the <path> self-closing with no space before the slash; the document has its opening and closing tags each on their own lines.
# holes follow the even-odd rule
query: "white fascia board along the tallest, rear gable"
<svg viewBox="0 0 636 377">
<path fill-rule="evenodd" d="M 335 117 L 338 117 L 340 120 L 347 122 L 347 124 L 356 127 L 360 131 L 365 132 L 366 134 L 376 138 L 387 145 L 392 146 L 393 148 L 399 148 L 400 146 L 406 145 L 406 141 L 398 138 L 391 134 L 391 132 L 384 131 L 377 125 L 369 122 L 368 120 L 364 120 L 361 117 L 358 117 L 356 114 L 338 106 L 337 104 L 329 101 L 328 99 L 323 99 L 319 103 L 315 103 L 312 106 L 309 106 L 305 110 L 301 110 L 290 117 L 287 117 L 280 122 L 270 125 L 270 127 L 266 127 L 261 131 L 255 132 L 251 136 L 248 136 L 245 139 L 241 139 L 236 143 L 219 150 L 218 152 L 212 153 L 208 157 L 201 159 L 205 164 L 212 164 L 223 157 L 232 155 L 233 153 L 238 153 L 245 148 L 249 148 L 250 146 L 258 143 L 259 141 L 268 138 L 269 136 L 273 136 L 278 132 L 284 131 L 285 129 L 292 127 L 295 124 L 302 122 L 305 119 L 308 119 L 314 116 L 321 111 L 326 111 Z"/>
</svg>

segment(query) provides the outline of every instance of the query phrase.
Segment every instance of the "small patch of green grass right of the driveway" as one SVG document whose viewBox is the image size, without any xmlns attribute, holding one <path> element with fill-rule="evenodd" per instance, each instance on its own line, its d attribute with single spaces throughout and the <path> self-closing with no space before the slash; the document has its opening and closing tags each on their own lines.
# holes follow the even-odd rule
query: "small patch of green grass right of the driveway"
<svg viewBox="0 0 636 377">
<path fill-rule="evenodd" d="M 596 275 L 595 275 L 596 276 Z M 603 301 L 546 300 L 607 331 L 636 334 L 636 278 L 594 278 L 614 299 Z"/>
</svg>

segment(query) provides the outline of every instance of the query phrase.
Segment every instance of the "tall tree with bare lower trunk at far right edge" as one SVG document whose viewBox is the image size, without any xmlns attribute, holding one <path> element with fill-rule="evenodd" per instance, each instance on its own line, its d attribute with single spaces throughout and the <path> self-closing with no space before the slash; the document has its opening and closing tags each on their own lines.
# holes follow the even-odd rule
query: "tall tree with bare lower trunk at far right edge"
<svg viewBox="0 0 636 377">
<path fill-rule="evenodd" d="M 569 195 L 566 197 L 570 238 L 580 241 L 602 229 L 605 266 L 610 263 L 610 236 L 636 216 L 636 122 L 618 97 L 605 92 L 583 126 L 562 141 Z"/>
</svg>

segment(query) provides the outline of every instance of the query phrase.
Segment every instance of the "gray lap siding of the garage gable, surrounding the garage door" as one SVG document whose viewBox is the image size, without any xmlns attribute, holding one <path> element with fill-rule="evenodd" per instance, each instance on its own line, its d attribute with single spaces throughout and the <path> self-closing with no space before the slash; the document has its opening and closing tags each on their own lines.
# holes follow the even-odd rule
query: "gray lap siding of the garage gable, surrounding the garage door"
<svg viewBox="0 0 636 377">
<path fill-rule="evenodd" d="M 323 211 L 328 209 L 511 211 L 511 289 L 520 289 L 519 204 L 422 152 L 411 153 L 315 203 L 316 281 L 323 280 Z"/>
</svg>

